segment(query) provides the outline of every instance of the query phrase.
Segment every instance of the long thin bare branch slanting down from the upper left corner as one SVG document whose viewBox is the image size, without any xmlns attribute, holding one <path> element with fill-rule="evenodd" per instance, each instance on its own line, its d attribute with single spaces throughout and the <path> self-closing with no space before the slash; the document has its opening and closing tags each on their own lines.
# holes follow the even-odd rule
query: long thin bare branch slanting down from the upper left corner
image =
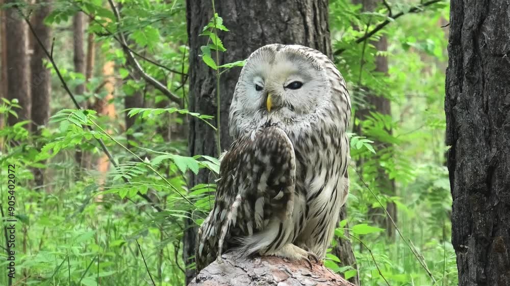
<svg viewBox="0 0 510 286">
<path fill-rule="evenodd" d="M 39 43 L 39 45 L 41 46 L 41 48 L 43 49 L 44 53 L 46 54 L 48 60 L 50 63 L 52 63 L 52 66 L 53 68 L 55 69 L 55 72 L 57 73 L 57 76 L 59 77 L 60 79 L 60 82 L 62 83 L 62 87 L 64 88 L 64 90 L 67 92 L 67 94 L 69 95 L 69 97 L 71 98 L 72 102 L 74 103 L 74 106 L 77 108 L 77 109 L 80 109 L 80 110 L 83 110 L 82 107 L 80 106 L 80 104 L 78 103 L 78 101 L 76 101 L 76 99 L 74 98 L 74 95 L 72 94 L 72 92 L 69 90 L 69 87 L 67 86 L 67 83 L 65 82 L 64 78 L 62 77 L 62 74 L 60 73 L 60 70 L 57 66 L 57 64 L 55 63 L 55 60 L 53 59 L 53 56 L 51 56 L 51 54 L 49 53 L 49 51 L 46 49 L 46 47 L 44 46 L 44 44 L 41 42 L 41 39 L 39 38 L 39 36 L 37 35 L 37 33 L 35 32 L 34 30 L 34 26 L 32 25 L 32 23 L 30 23 L 30 20 L 27 18 L 27 16 L 25 16 L 23 14 L 23 12 L 18 8 L 18 11 L 20 13 L 20 15 L 22 15 L 23 19 L 25 20 L 25 22 L 27 23 L 27 25 L 29 26 L 30 28 L 30 31 L 32 32 L 32 35 L 34 35 L 34 38 L 37 40 L 37 43 Z M 92 127 L 88 126 L 88 129 L 90 131 L 92 131 Z M 101 140 L 100 138 L 96 138 L 97 142 L 99 143 L 99 146 L 101 147 L 101 149 L 103 150 L 103 152 L 106 154 L 106 156 L 108 157 L 108 159 L 110 160 L 110 162 L 112 163 L 112 165 L 115 167 L 115 168 L 118 168 L 118 164 L 117 162 L 115 161 L 115 159 L 113 158 L 112 154 L 110 153 L 110 151 L 108 151 L 108 148 L 106 147 L 105 145 L 105 142 L 103 142 L 103 140 Z M 129 183 L 129 181 L 122 177 L 122 179 L 124 180 L 125 183 Z M 147 194 L 142 194 L 140 192 L 137 192 L 137 195 L 141 196 L 142 198 L 145 199 L 145 201 L 147 201 L 153 208 L 155 208 L 158 212 L 162 212 L 163 209 L 161 209 L 159 206 L 157 206 L 154 202 L 152 202 L 152 200 L 150 199 L 150 197 L 147 195 Z"/>
</svg>

